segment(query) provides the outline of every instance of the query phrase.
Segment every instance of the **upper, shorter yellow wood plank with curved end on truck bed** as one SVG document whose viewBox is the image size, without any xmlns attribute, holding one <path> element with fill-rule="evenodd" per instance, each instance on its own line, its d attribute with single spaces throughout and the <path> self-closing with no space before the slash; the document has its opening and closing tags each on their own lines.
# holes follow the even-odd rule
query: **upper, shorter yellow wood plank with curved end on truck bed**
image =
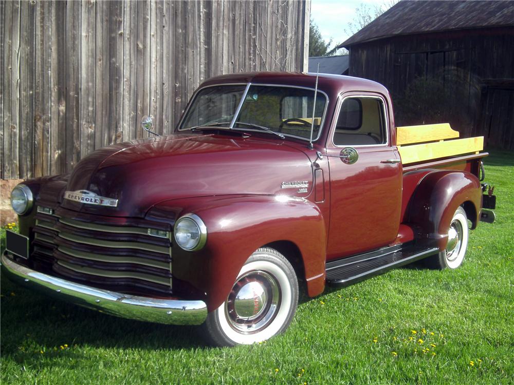
<svg viewBox="0 0 514 385">
<path fill-rule="evenodd" d="M 405 145 L 458 138 L 458 131 L 449 123 L 396 127 L 396 144 Z"/>
</svg>

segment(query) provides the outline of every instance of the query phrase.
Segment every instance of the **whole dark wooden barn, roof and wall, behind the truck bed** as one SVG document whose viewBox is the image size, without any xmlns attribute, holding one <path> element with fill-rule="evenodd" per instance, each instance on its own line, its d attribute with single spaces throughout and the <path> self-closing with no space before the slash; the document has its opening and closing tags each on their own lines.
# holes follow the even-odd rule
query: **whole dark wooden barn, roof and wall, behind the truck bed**
<svg viewBox="0 0 514 385">
<path fill-rule="evenodd" d="M 339 47 L 391 91 L 397 125 L 449 121 L 514 149 L 514 2 L 397 3 Z"/>
</svg>

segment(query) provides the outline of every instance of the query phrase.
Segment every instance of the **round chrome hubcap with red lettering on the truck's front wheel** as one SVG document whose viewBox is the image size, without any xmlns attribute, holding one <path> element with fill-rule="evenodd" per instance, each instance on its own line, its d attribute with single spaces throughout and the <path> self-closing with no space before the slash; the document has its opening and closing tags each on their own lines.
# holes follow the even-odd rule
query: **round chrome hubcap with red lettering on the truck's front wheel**
<svg viewBox="0 0 514 385">
<path fill-rule="evenodd" d="M 277 280 L 264 271 L 248 272 L 232 287 L 225 313 L 230 326 L 238 332 L 257 333 L 277 315 L 280 291 Z"/>
</svg>

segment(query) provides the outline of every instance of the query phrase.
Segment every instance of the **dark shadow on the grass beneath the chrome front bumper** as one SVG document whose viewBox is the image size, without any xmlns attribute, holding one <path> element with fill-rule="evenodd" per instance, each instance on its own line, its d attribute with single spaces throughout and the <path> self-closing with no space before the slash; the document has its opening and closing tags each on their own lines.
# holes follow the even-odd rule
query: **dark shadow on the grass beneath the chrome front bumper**
<svg viewBox="0 0 514 385">
<path fill-rule="evenodd" d="M 25 290 L 4 275 L 0 292 L 2 357 L 23 365 L 41 365 L 43 356 L 52 355 L 80 359 L 74 347 L 211 349 L 199 336 L 197 326 L 163 325 L 102 314 Z M 67 348 L 61 348 L 65 344 Z"/>
</svg>

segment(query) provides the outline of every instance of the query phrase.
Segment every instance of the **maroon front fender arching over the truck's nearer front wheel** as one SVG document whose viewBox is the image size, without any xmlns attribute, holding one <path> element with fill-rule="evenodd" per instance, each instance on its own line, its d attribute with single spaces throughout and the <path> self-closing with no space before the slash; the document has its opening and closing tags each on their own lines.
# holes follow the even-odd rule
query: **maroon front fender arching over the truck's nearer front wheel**
<svg viewBox="0 0 514 385">
<path fill-rule="evenodd" d="M 173 247 L 173 276 L 205 293 L 209 311 L 227 299 L 248 257 L 275 241 L 289 241 L 298 247 L 305 272 L 305 277 L 299 278 L 306 279 L 309 295 L 323 292 L 326 229 L 316 204 L 302 198 L 245 196 L 169 201 L 166 205 L 182 206 L 176 218 L 194 213 L 206 224 L 207 243 L 202 250 L 186 252 Z"/>
</svg>

